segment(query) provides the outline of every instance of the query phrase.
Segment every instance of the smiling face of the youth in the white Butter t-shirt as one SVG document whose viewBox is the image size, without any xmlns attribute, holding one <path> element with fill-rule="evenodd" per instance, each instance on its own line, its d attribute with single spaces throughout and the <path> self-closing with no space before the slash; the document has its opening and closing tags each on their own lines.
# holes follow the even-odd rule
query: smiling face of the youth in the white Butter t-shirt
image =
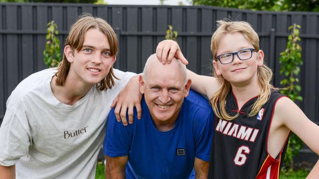
<svg viewBox="0 0 319 179">
<path fill-rule="evenodd" d="M 105 34 L 96 28 L 86 31 L 82 48 L 77 51 L 67 45 L 64 49 L 70 62 L 70 76 L 77 82 L 93 86 L 106 78 L 115 56 L 109 55 L 110 45 Z"/>
</svg>

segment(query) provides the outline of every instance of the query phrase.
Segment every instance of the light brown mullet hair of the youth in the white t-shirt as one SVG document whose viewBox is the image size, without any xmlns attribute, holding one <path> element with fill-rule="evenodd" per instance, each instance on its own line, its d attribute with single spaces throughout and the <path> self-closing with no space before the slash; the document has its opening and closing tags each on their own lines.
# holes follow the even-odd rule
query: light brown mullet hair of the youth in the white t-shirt
<svg viewBox="0 0 319 179">
<path fill-rule="evenodd" d="M 113 28 L 103 19 L 93 17 L 91 14 L 88 13 L 81 14 L 78 17 L 77 21 L 71 26 L 69 35 L 65 40 L 64 46 L 70 45 L 72 50 L 79 51 L 83 46 L 85 33 L 89 29 L 98 29 L 103 34 L 105 34 L 110 45 L 110 56 L 113 57 L 117 54 L 118 40 Z M 72 54 L 74 54 L 74 51 L 72 52 Z M 57 72 L 55 74 L 56 86 L 63 86 L 66 77 L 69 73 L 70 66 L 71 63 L 67 60 L 65 54 L 63 54 L 62 61 L 57 66 Z M 115 84 L 113 78 L 118 79 L 114 75 L 113 67 L 110 67 L 109 72 L 106 75 L 106 78 L 102 79 L 99 82 L 98 88 L 100 90 L 111 89 Z"/>
</svg>

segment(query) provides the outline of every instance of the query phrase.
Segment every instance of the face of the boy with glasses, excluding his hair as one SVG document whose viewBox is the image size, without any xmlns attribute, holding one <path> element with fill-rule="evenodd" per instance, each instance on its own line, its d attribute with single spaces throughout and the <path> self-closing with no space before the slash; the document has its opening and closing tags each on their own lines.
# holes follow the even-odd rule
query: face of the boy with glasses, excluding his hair
<svg viewBox="0 0 319 179">
<path fill-rule="evenodd" d="M 233 53 L 246 48 L 254 48 L 245 36 L 239 32 L 226 33 L 220 39 L 217 49 L 217 56 L 224 53 Z M 253 52 L 248 60 L 240 60 L 237 55 L 229 64 L 221 64 L 220 61 L 213 61 L 216 74 L 222 75 L 232 85 L 245 85 L 251 81 L 257 82 L 257 68 L 264 63 L 262 50 Z"/>
</svg>

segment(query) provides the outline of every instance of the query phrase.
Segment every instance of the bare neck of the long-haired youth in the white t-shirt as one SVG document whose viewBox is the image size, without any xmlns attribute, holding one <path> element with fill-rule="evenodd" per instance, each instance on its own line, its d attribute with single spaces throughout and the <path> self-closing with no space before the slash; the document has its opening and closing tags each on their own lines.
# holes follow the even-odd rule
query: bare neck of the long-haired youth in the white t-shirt
<svg viewBox="0 0 319 179">
<path fill-rule="evenodd" d="M 72 79 L 69 75 L 63 86 L 56 86 L 55 79 L 56 76 L 54 75 L 50 83 L 54 97 L 60 102 L 71 106 L 84 97 L 93 87 L 93 85 L 80 83 L 79 80 Z"/>
</svg>

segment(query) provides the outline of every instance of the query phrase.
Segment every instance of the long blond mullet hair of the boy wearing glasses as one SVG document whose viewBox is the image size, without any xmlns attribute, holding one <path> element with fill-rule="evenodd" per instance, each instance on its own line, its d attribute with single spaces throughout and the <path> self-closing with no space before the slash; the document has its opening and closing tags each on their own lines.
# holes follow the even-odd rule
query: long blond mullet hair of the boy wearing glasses
<svg viewBox="0 0 319 179">
<path fill-rule="evenodd" d="M 211 50 L 213 53 L 213 60 L 217 61 L 217 49 L 220 39 L 227 33 L 239 32 L 251 42 L 256 51 L 259 51 L 259 37 L 248 22 L 232 22 L 230 20 L 217 21 L 217 29 L 213 33 L 211 41 Z M 257 54 L 258 55 L 258 54 Z M 233 120 L 239 116 L 239 112 L 235 116 L 231 116 L 226 112 L 225 102 L 227 94 L 232 90 L 231 84 L 225 80 L 222 75 L 217 75 L 213 69 L 213 76 L 216 77 L 220 83 L 219 90 L 210 99 L 213 106 L 215 115 L 220 119 Z M 261 88 L 260 95 L 256 102 L 251 106 L 251 111 L 248 116 L 256 115 L 262 106 L 267 102 L 270 97 L 270 90 L 273 88 L 270 84 L 272 79 L 272 71 L 265 64 L 262 67 L 257 68 L 258 85 Z"/>
</svg>

